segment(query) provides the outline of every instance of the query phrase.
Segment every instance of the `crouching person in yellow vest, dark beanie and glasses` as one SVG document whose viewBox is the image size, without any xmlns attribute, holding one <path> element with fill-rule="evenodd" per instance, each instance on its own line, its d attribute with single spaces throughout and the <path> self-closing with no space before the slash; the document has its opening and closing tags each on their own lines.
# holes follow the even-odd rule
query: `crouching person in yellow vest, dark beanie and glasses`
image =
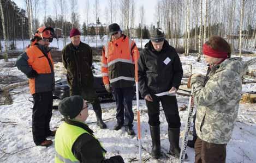
<svg viewBox="0 0 256 163">
<path fill-rule="evenodd" d="M 64 122 L 55 135 L 55 162 L 122 163 L 120 155 L 105 159 L 106 150 L 85 124 L 88 105 L 82 96 L 64 98 L 58 105 Z"/>
</svg>

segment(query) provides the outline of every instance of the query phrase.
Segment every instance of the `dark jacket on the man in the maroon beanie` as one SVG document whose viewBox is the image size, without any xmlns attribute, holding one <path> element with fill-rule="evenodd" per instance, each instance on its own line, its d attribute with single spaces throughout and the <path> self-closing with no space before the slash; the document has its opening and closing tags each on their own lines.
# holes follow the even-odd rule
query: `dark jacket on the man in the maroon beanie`
<svg viewBox="0 0 256 163">
<path fill-rule="evenodd" d="M 69 43 L 62 50 L 62 63 L 67 69 L 67 80 L 70 86 L 92 86 L 92 49 L 80 42 L 78 47 Z"/>
</svg>

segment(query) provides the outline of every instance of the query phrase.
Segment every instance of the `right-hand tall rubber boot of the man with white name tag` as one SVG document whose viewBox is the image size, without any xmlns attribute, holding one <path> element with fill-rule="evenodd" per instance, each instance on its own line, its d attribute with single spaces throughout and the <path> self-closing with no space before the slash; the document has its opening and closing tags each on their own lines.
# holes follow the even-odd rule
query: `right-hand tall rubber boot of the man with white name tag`
<svg viewBox="0 0 256 163">
<path fill-rule="evenodd" d="M 181 148 L 179 146 L 180 142 L 180 128 L 168 128 L 168 137 L 170 142 L 170 154 L 176 158 L 180 158 Z M 185 159 L 188 155 L 185 155 Z"/>
</svg>

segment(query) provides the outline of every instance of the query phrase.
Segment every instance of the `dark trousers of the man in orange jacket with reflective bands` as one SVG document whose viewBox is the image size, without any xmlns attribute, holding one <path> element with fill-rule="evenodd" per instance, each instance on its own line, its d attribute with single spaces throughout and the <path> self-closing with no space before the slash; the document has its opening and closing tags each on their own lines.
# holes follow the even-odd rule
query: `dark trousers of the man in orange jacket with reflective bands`
<svg viewBox="0 0 256 163">
<path fill-rule="evenodd" d="M 117 123 L 127 127 L 133 127 L 133 87 L 112 88 L 116 101 Z"/>
</svg>

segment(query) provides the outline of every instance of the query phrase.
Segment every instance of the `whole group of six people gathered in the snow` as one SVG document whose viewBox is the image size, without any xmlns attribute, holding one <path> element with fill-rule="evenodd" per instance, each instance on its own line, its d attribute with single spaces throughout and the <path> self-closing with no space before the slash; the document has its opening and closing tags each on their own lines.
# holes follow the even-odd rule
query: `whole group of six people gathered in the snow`
<svg viewBox="0 0 256 163">
<path fill-rule="evenodd" d="M 102 51 L 102 76 L 105 89 L 112 92 L 116 101 L 116 124 L 128 135 L 133 130 L 135 62 L 138 62 L 139 91 L 144 97 L 152 139 L 153 158 L 160 158 L 159 103 L 168 123 L 169 152 L 180 157 L 181 120 L 175 93 L 183 76 L 182 64 L 175 48 L 165 40 L 162 29 L 151 32 L 150 41 L 139 54 L 133 40 L 122 34 L 117 23 L 109 26 L 110 40 Z M 97 125 L 107 128 L 102 120 L 102 109 L 93 89 L 92 49 L 80 41 L 78 29 L 70 31 L 71 43 L 62 50 L 63 66 L 67 69 L 70 97 L 58 106 L 64 122 L 57 131 L 50 130 L 52 116 L 52 91 L 55 87 L 53 61 L 49 43 L 53 29 L 41 27 L 34 34 L 31 46 L 17 58 L 16 65 L 29 78 L 29 88 L 34 100 L 32 134 L 35 145 L 50 146 L 48 136 L 55 136 L 55 162 L 124 162 L 122 156 L 105 159 L 106 150 L 85 123 L 88 105 L 93 105 Z M 209 71 L 193 74 L 188 86 L 193 87 L 197 103 L 195 118 L 195 162 L 225 162 L 226 145 L 231 138 L 239 108 L 242 75 L 246 64 L 239 58 L 230 58 L 231 48 L 219 36 L 211 36 L 203 46 Z M 135 55 L 139 55 L 136 60 Z M 168 92 L 168 93 L 163 93 Z M 187 159 L 187 154 L 185 159 Z"/>
</svg>

